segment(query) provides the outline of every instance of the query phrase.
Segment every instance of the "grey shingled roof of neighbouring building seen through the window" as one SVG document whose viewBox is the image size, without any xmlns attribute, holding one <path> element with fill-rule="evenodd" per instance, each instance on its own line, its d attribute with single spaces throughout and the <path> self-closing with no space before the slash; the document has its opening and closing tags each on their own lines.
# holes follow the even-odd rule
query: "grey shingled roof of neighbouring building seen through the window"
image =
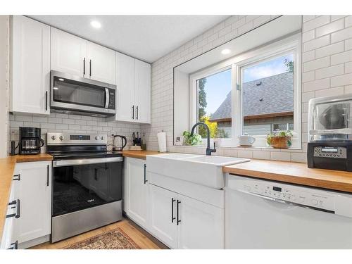
<svg viewBox="0 0 352 264">
<path fill-rule="evenodd" d="M 244 118 L 293 115 L 294 74 L 280 73 L 243 84 Z M 231 120 L 231 92 L 211 115 L 210 122 Z"/>
</svg>

